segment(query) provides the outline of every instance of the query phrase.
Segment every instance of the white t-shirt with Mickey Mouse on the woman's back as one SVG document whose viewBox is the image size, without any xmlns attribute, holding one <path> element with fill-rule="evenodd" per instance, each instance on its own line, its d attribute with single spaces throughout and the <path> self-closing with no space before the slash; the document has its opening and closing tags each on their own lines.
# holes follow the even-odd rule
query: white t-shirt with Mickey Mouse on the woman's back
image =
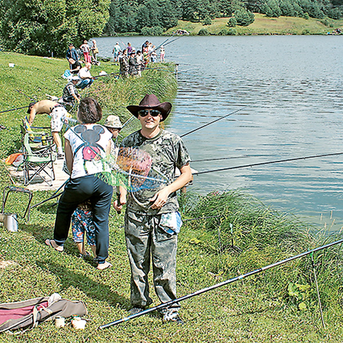
<svg viewBox="0 0 343 343">
<path fill-rule="evenodd" d="M 100 124 L 80 124 L 64 133 L 73 153 L 71 178 L 110 171 L 103 159 L 112 134 Z"/>
</svg>

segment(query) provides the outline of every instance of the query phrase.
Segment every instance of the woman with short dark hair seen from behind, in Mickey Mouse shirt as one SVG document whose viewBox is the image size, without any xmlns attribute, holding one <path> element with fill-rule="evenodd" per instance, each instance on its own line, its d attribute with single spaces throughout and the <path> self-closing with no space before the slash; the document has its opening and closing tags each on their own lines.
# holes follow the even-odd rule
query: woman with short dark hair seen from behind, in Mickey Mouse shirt
<svg viewBox="0 0 343 343">
<path fill-rule="evenodd" d="M 102 125 L 96 124 L 102 118 L 102 109 L 95 99 L 86 97 L 80 101 L 78 121 L 64 134 L 65 154 L 70 179 L 60 197 L 54 239 L 45 244 L 57 251 L 63 251 L 68 237 L 71 216 L 77 206 L 90 200 L 95 226 L 97 269 L 111 267 L 108 257 L 108 215 L 112 199 L 112 186 L 95 174 L 107 170 L 102 159 L 109 154 L 112 134 Z M 105 169 L 104 169 L 105 168 Z"/>
</svg>

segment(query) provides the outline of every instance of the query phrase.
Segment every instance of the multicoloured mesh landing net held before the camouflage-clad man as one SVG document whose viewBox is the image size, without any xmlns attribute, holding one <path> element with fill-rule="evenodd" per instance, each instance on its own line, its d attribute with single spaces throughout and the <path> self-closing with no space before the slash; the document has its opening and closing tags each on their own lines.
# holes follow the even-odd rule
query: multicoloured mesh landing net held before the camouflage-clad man
<svg viewBox="0 0 343 343">
<path fill-rule="evenodd" d="M 152 157 L 146 151 L 132 147 L 121 147 L 117 158 L 107 156 L 104 161 L 111 171 L 98 173 L 97 176 L 111 186 L 123 186 L 128 191 L 159 188 L 167 183 L 152 168 Z"/>
</svg>

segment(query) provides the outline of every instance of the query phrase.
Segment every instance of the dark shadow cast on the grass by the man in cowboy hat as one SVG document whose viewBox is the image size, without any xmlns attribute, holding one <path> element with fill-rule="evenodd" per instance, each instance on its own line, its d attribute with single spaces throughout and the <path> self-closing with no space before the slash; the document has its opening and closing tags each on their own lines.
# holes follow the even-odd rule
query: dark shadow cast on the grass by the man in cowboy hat
<svg viewBox="0 0 343 343">
<path fill-rule="evenodd" d="M 129 300 L 117 292 L 113 292 L 111 288 L 103 283 L 96 282 L 81 273 L 76 273 L 65 266 L 58 265 L 51 261 L 36 261 L 36 264 L 43 271 L 55 274 L 61 283 L 62 289 L 67 289 L 70 286 L 80 289 L 80 291 L 87 294 L 88 297 L 98 300 L 106 301 L 112 306 L 118 306 L 127 310 L 129 308 Z M 102 273 L 94 270 L 94 273 Z"/>
</svg>

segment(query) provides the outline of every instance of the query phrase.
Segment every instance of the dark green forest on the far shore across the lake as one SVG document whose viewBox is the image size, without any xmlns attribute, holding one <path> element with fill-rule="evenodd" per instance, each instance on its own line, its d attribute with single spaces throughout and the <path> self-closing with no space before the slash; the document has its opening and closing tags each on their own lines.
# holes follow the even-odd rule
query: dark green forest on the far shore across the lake
<svg viewBox="0 0 343 343">
<path fill-rule="evenodd" d="M 210 25 L 218 17 L 233 17 L 229 26 L 249 25 L 253 12 L 269 17 L 343 18 L 342 0 L 111 0 L 105 33 L 161 34 L 177 20 Z"/>
</svg>

